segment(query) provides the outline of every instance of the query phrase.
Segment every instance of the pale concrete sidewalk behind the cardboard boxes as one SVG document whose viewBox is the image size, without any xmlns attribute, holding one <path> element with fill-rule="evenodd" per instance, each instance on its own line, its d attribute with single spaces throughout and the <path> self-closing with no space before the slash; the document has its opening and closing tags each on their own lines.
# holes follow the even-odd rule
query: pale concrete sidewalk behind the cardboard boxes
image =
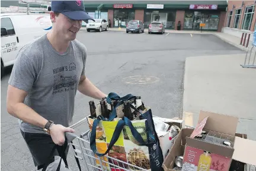
<svg viewBox="0 0 256 171">
<path fill-rule="evenodd" d="M 256 140 L 256 70 L 245 54 L 189 57 L 185 61 L 183 119 L 196 126 L 199 111 L 239 117 L 238 133 Z"/>
</svg>

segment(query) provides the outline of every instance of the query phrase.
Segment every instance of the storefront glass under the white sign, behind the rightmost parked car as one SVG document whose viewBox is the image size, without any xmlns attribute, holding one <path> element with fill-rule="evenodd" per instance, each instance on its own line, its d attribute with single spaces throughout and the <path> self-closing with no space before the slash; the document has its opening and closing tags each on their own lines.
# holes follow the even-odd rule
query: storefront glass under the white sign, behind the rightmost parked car
<svg viewBox="0 0 256 171">
<path fill-rule="evenodd" d="M 145 10 L 144 13 L 144 26 L 149 27 L 152 21 L 162 21 L 165 28 L 174 29 L 175 27 L 176 11 L 156 11 L 156 10 Z"/>
</svg>

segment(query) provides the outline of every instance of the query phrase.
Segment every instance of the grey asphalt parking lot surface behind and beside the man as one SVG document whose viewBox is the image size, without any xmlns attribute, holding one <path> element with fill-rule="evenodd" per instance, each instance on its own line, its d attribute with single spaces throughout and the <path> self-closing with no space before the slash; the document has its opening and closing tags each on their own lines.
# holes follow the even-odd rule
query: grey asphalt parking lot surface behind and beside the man
<svg viewBox="0 0 256 171">
<path fill-rule="evenodd" d="M 92 83 L 105 93 L 141 96 L 154 115 L 168 118 L 181 117 L 186 57 L 242 52 L 207 34 L 153 35 L 83 30 L 77 38 L 87 47 L 85 71 Z M 36 170 L 17 119 L 7 113 L 6 95 L 11 69 L 7 68 L 1 80 L 1 169 Z M 88 101 L 91 99 L 77 94 L 73 122 L 89 114 Z M 76 128 L 76 133 L 86 130 L 87 124 L 83 124 Z M 75 168 L 72 153 L 68 155 L 68 163 Z"/>
</svg>

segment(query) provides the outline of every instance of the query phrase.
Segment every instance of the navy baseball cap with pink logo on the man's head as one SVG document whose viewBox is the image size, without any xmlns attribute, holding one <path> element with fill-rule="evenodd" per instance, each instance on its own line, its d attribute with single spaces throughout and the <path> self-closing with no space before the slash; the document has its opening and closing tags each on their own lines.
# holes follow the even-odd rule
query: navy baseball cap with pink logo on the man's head
<svg viewBox="0 0 256 171">
<path fill-rule="evenodd" d="M 52 11 L 74 20 L 92 19 L 84 8 L 83 1 L 52 1 Z M 94 19 L 92 19 L 94 21 Z"/>
</svg>

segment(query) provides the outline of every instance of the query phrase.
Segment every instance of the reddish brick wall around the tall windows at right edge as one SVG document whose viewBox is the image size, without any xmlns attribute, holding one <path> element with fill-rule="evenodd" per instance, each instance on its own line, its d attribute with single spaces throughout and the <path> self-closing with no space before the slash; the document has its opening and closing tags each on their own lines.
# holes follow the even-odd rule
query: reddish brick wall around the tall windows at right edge
<svg viewBox="0 0 256 171">
<path fill-rule="evenodd" d="M 228 11 L 226 12 L 226 17 L 225 17 L 225 22 L 223 22 L 223 27 L 226 27 L 226 24 L 227 24 L 227 21 L 228 21 L 229 11 L 233 10 L 233 14 L 232 14 L 232 17 L 231 17 L 231 24 L 229 26 L 229 27 L 233 28 L 235 10 L 239 9 L 239 8 L 242 8 L 242 12 L 241 12 L 240 20 L 239 20 L 239 25 L 238 25 L 238 29 L 241 29 L 242 21 L 244 19 L 245 7 L 249 6 L 249 5 L 254 5 L 254 4 L 255 4 L 255 1 L 244 1 L 244 5 L 242 6 L 242 1 L 228 1 Z M 234 8 L 233 8 L 233 6 L 234 6 Z M 252 18 L 251 31 L 254 31 L 254 25 L 255 25 L 255 19 L 256 19 L 255 11 L 254 11 L 254 17 Z"/>
</svg>

